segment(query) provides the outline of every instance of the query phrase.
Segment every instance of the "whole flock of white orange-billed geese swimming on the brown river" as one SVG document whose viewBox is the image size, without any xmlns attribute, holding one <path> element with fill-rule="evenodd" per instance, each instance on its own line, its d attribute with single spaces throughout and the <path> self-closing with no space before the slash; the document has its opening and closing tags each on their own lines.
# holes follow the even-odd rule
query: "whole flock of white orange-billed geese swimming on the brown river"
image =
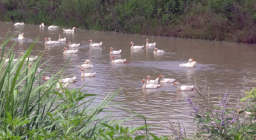
<svg viewBox="0 0 256 140">
<path fill-rule="evenodd" d="M 14 26 L 24 26 L 24 22 L 17 22 L 14 24 Z M 44 23 L 42 23 L 40 25 L 40 27 L 45 27 Z M 59 26 L 49 26 L 48 29 L 57 29 Z M 64 32 L 74 32 L 74 29 L 76 29 L 76 27 L 73 27 L 72 29 L 63 29 Z M 24 33 L 20 34 L 18 37 L 19 40 L 24 39 Z M 57 44 L 60 42 L 66 42 L 66 38 L 61 38 L 61 36 L 59 35 L 59 40 L 58 41 L 52 41 L 51 38 L 44 38 L 45 43 L 44 45 L 52 45 L 52 44 Z M 93 43 L 92 40 L 88 40 L 88 42 L 90 42 L 90 47 L 102 47 L 102 42 L 100 43 Z M 133 42 L 130 42 L 131 44 L 131 49 L 143 49 L 144 45 L 134 45 Z M 74 54 L 77 53 L 78 49 L 74 49 L 74 50 L 70 50 L 70 48 L 76 48 L 79 47 L 80 43 L 71 43 L 68 42 L 68 47 L 64 47 L 63 48 L 63 54 Z M 154 43 L 148 43 L 148 39 L 147 39 L 147 43 L 145 45 L 145 47 L 155 47 L 154 50 L 154 54 L 163 54 L 165 53 L 163 50 L 159 50 L 156 48 L 156 42 Z M 110 52 L 109 54 L 111 55 L 112 61 L 111 63 L 129 63 L 129 61 L 126 61 L 126 59 L 115 59 L 115 55 L 120 55 L 122 52 L 122 50 L 119 51 L 113 51 L 113 47 L 110 48 Z M 24 53 L 20 53 L 20 55 L 23 55 Z M 27 58 L 26 61 L 35 61 L 37 58 L 37 56 L 35 58 Z M 5 59 L 5 61 L 9 61 L 9 59 Z M 17 61 L 17 59 L 14 59 L 13 61 Z M 84 71 L 86 70 L 86 68 L 93 68 L 93 65 L 91 64 L 91 61 L 86 59 L 84 61 L 83 65 L 77 65 L 79 68 L 81 68 L 82 74 L 81 77 L 95 77 L 96 72 L 94 73 L 85 73 Z M 184 63 L 184 64 L 180 64 L 180 66 L 184 66 L 184 67 L 195 67 L 196 66 L 196 61 L 194 61 L 194 59 L 190 58 L 188 60 L 188 63 Z M 29 68 L 31 67 L 31 65 L 29 65 Z M 38 69 L 37 72 L 40 72 L 41 69 Z M 159 81 L 159 79 L 161 78 L 161 80 Z M 50 77 L 44 77 L 43 80 L 49 80 L 51 79 Z M 65 79 L 60 79 L 59 80 L 60 83 L 65 83 L 62 86 L 63 87 L 67 87 L 68 83 L 70 82 L 76 82 L 76 76 L 72 77 L 72 78 L 65 78 Z M 177 84 L 178 91 L 193 91 L 193 86 L 187 86 L 187 85 L 183 85 L 180 86 L 179 82 L 175 82 L 175 79 L 167 79 L 164 77 L 163 74 L 159 75 L 159 77 L 157 77 L 156 80 L 151 80 L 150 79 L 150 75 L 147 76 L 147 79 L 143 79 L 142 81 L 144 83 L 144 85 L 142 86 L 143 89 L 152 89 L 152 88 L 159 88 L 161 86 L 161 83 L 173 83 L 173 84 Z M 60 88 L 60 84 L 56 85 L 56 89 Z"/>
</svg>

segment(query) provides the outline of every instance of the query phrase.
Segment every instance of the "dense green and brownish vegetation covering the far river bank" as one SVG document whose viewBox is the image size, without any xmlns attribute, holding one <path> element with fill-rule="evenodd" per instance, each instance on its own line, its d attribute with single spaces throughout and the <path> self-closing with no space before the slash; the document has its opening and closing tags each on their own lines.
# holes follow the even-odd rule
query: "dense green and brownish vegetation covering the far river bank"
<svg viewBox="0 0 256 140">
<path fill-rule="evenodd" d="M 0 17 L 31 24 L 256 43 L 255 0 L 3 0 Z"/>
</svg>

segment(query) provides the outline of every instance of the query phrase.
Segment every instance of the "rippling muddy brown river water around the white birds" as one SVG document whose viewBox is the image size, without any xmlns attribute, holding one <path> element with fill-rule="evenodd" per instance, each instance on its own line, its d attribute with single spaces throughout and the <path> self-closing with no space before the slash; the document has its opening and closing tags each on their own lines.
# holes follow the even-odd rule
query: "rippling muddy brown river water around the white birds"
<svg viewBox="0 0 256 140">
<path fill-rule="evenodd" d="M 241 81 L 244 75 L 255 77 L 255 51 L 256 47 L 252 44 L 212 42 L 202 40 L 190 40 L 182 38 L 170 38 L 163 36 L 146 36 L 130 35 L 123 33 L 111 33 L 100 31 L 86 31 L 77 29 L 74 33 L 63 33 L 63 29 L 47 29 L 47 26 L 12 26 L 0 22 L 1 32 L 0 40 L 3 43 L 10 28 L 9 35 L 17 31 L 25 34 L 24 40 L 18 40 L 14 36 L 6 45 L 6 51 L 17 42 L 14 47 L 15 53 L 25 52 L 31 43 L 35 42 L 35 47 L 31 51 L 31 56 L 45 51 L 42 57 L 42 63 L 51 59 L 45 66 L 50 66 L 42 77 L 56 74 L 65 66 L 70 59 L 64 75 L 77 77 L 77 82 L 70 84 L 69 89 L 81 88 L 84 84 L 83 91 L 98 94 L 99 97 L 95 102 L 100 102 L 109 92 L 115 91 L 120 87 L 123 90 L 115 97 L 114 102 L 121 103 L 122 107 L 136 111 L 137 113 L 148 116 L 148 125 L 155 125 L 152 130 L 155 134 L 169 134 L 170 132 L 163 128 L 161 122 L 166 120 L 179 121 L 186 127 L 186 130 L 193 132 L 195 124 L 193 118 L 188 116 L 191 105 L 186 101 L 186 92 L 177 92 L 177 86 L 172 83 L 162 84 L 159 89 L 141 89 L 147 75 L 151 79 L 156 79 L 160 74 L 166 78 L 173 78 L 179 81 L 181 85 L 195 84 L 194 75 L 197 81 L 204 86 L 204 79 L 210 87 L 212 104 L 218 101 L 218 95 L 225 93 L 226 88 L 229 90 L 230 102 L 236 102 L 240 94 L 239 89 L 243 88 Z M 77 54 L 63 54 L 63 47 L 67 43 L 61 42 L 54 45 L 44 45 L 44 38 L 50 37 L 52 40 L 67 38 L 67 42 L 81 43 Z M 131 49 L 129 43 L 131 40 L 135 45 L 145 45 L 145 40 L 156 42 L 157 49 L 166 51 L 164 54 L 154 54 L 154 47 L 145 49 Z M 95 42 L 103 42 L 102 47 L 90 47 L 87 42 L 89 39 Z M 154 41 L 153 41 L 154 39 Z M 115 50 L 122 49 L 121 55 L 116 55 L 116 59 L 127 59 L 127 64 L 111 63 L 109 48 Z M 16 55 L 15 58 L 18 58 Z M 196 61 L 195 68 L 184 68 L 179 65 L 188 63 L 188 59 L 193 58 Z M 77 65 L 82 65 L 85 59 L 90 59 L 93 68 L 86 72 L 96 72 L 95 77 L 81 77 L 81 69 Z M 192 91 L 195 93 L 195 91 Z M 96 103 L 95 103 L 96 104 Z M 122 109 L 113 110 L 115 118 L 127 118 L 132 116 L 131 113 Z M 143 121 L 134 120 L 134 125 L 143 125 Z M 129 125 L 127 123 L 127 125 Z M 165 125 L 167 125 L 165 123 Z"/>
</svg>

